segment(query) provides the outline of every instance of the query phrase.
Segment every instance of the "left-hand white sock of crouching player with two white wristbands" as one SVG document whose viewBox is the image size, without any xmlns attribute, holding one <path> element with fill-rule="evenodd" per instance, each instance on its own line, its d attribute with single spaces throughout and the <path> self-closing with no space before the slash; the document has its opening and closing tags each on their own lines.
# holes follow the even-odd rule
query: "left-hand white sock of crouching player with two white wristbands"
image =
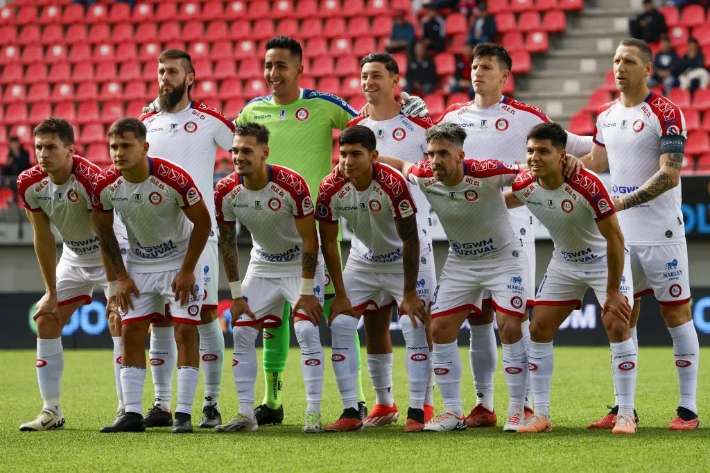
<svg viewBox="0 0 710 473">
<path fill-rule="evenodd" d="M 234 359 L 231 374 L 234 376 L 239 413 L 254 418 L 254 384 L 256 384 L 256 337 L 253 327 L 234 327 Z"/>
</svg>

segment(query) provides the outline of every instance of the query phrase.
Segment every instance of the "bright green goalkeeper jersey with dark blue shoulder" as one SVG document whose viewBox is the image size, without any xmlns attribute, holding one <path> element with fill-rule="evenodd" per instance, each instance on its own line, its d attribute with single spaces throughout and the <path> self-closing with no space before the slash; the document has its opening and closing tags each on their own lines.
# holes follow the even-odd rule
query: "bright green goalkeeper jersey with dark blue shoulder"
<svg viewBox="0 0 710 473">
<path fill-rule="evenodd" d="M 266 126 L 271 131 L 268 162 L 302 175 L 315 202 L 320 181 L 333 169 L 333 129 L 344 130 L 355 116 L 339 97 L 300 89 L 295 102 L 287 105 L 274 102 L 273 95 L 252 99 L 234 124 L 254 121 Z"/>
</svg>

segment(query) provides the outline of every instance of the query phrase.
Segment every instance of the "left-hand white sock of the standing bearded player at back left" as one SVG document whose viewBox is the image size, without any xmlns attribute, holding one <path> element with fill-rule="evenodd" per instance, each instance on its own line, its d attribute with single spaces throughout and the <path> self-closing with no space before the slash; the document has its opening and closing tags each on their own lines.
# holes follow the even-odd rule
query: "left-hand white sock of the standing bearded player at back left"
<svg viewBox="0 0 710 473">
<path fill-rule="evenodd" d="M 175 343 L 175 329 L 151 327 L 151 374 L 155 389 L 155 404 L 165 412 L 170 412 L 173 402 L 173 370 L 178 364 L 178 344 Z"/>
</svg>

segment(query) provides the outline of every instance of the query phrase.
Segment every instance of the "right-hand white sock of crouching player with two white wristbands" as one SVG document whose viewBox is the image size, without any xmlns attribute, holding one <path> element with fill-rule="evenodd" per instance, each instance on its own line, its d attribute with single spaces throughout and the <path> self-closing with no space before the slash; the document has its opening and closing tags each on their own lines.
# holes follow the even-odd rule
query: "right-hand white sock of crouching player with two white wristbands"
<svg viewBox="0 0 710 473">
<path fill-rule="evenodd" d="M 310 320 L 296 319 L 293 324 L 301 349 L 301 372 L 306 386 L 306 412 L 320 413 L 323 398 L 323 346 L 318 327 Z"/>
</svg>

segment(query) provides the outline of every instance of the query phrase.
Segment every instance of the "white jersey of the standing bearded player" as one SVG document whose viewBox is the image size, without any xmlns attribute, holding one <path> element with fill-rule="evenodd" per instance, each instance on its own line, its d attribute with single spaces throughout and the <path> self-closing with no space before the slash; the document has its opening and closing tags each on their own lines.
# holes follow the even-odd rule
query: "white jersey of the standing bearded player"
<svg viewBox="0 0 710 473">
<path fill-rule="evenodd" d="M 214 221 L 214 162 L 217 148 L 231 149 L 234 124 L 218 109 L 190 102 L 180 112 L 142 114 L 151 156 L 179 165 L 192 176 L 212 215 L 210 239 L 217 241 Z"/>
</svg>

